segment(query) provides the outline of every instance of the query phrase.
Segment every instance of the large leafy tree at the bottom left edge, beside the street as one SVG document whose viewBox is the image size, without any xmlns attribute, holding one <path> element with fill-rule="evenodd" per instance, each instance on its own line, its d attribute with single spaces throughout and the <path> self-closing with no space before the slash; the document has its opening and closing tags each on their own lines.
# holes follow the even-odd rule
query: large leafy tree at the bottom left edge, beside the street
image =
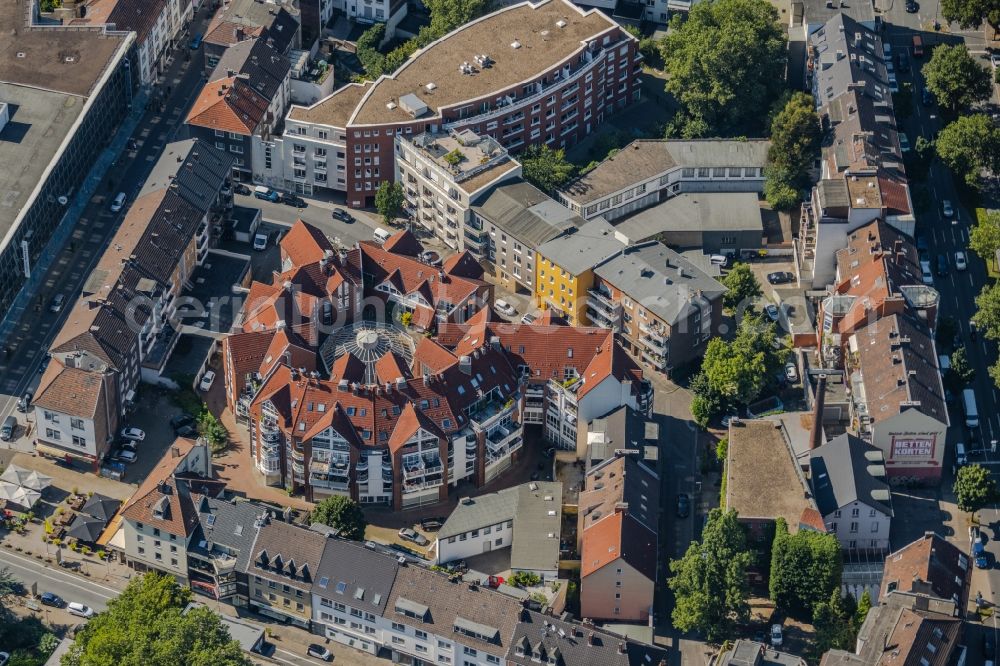
<svg viewBox="0 0 1000 666">
<path fill-rule="evenodd" d="M 90 619 L 63 657 L 64 666 L 250 666 L 221 619 L 208 608 L 183 614 L 191 590 L 171 576 L 133 579 Z"/>
</svg>

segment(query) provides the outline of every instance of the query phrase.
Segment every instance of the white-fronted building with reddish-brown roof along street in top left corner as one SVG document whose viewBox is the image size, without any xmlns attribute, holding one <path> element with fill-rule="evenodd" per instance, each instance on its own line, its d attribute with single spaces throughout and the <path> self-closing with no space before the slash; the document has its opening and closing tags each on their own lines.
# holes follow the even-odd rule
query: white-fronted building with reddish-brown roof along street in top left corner
<svg viewBox="0 0 1000 666">
<path fill-rule="evenodd" d="M 100 25 L 109 30 L 134 32 L 139 79 L 145 86 L 156 82 L 167 64 L 167 54 L 177 46 L 177 36 L 193 15 L 189 0 L 90 0 L 83 16 L 70 25 Z"/>
</svg>

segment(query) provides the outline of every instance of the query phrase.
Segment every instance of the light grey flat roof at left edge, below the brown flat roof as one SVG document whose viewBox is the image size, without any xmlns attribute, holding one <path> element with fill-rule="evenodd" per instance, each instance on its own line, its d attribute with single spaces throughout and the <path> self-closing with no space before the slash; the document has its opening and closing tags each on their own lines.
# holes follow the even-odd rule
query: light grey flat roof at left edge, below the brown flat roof
<svg viewBox="0 0 1000 666">
<path fill-rule="evenodd" d="M 6 240 L 44 180 L 86 101 L 77 95 L 0 83 L 0 102 L 7 103 L 10 114 L 0 130 L 0 237 Z"/>
</svg>

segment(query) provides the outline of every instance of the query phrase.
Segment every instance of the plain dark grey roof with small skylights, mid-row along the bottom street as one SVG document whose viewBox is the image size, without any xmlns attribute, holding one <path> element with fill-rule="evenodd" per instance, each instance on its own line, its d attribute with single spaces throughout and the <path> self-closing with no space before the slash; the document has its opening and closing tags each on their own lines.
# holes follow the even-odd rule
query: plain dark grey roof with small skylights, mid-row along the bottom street
<svg viewBox="0 0 1000 666">
<path fill-rule="evenodd" d="M 399 564 L 388 555 L 343 539 L 327 539 L 312 593 L 356 608 L 385 612 Z"/>
</svg>

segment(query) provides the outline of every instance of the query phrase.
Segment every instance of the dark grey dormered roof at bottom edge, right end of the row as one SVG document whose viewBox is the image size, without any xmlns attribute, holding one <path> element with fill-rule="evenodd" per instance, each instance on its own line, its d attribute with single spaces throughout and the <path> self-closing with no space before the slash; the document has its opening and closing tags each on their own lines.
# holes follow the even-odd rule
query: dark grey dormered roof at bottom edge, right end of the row
<svg viewBox="0 0 1000 666">
<path fill-rule="evenodd" d="M 555 654 L 557 666 L 660 666 L 667 653 L 659 647 L 619 636 L 599 627 L 564 622 L 534 611 L 523 611 L 514 630 L 507 661 L 530 666 L 547 663 Z M 537 655 L 541 659 L 534 659 Z"/>
</svg>

